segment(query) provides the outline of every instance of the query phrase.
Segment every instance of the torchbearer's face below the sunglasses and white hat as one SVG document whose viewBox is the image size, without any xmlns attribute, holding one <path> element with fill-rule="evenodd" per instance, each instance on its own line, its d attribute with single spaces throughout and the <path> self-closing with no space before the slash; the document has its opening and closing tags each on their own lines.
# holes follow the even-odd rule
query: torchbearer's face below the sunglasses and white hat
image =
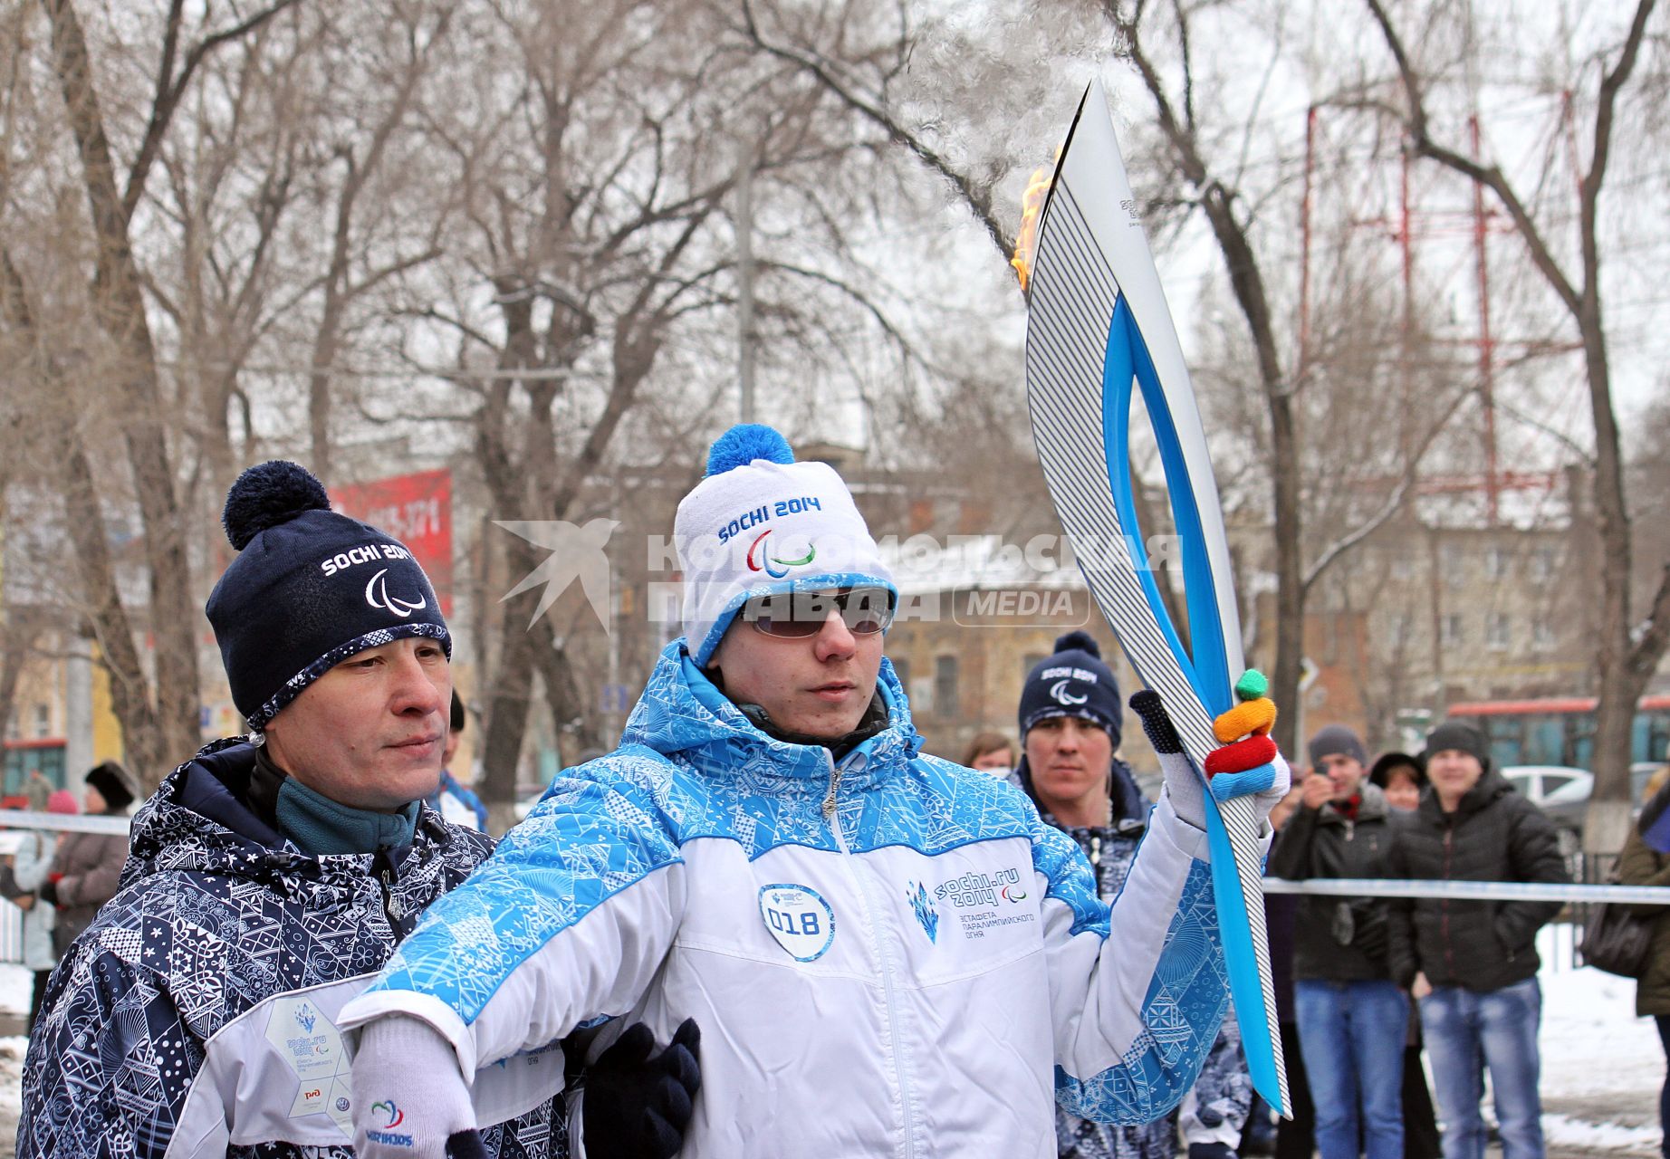
<svg viewBox="0 0 1670 1159">
<path fill-rule="evenodd" d="M 780 638 L 738 615 L 710 666 L 726 696 L 760 705 L 778 728 L 837 740 L 858 726 L 875 696 L 882 633 L 853 635 L 832 610 L 817 635 Z"/>
</svg>

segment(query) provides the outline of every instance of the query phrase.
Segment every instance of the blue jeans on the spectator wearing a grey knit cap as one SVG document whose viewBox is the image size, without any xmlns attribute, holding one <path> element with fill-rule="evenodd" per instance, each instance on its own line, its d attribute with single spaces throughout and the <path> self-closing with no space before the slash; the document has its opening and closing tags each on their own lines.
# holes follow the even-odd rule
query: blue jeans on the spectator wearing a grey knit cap
<svg viewBox="0 0 1670 1159">
<path fill-rule="evenodd" d="M 1403 1039 L 1409 1029 L 1403 990 L 1391 982 L 1301 979 L 1293 984 L 1293 1007 L 1323 1159 L 1403 1159 Z"/>
</svg>

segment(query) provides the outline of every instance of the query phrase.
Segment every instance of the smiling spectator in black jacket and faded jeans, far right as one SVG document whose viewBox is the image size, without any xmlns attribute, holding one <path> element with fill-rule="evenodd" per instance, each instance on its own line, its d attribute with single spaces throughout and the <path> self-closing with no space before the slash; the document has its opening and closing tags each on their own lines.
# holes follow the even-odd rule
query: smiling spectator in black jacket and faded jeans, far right
<svg viewBox="0 0 1670 1159">
<path fill-rule="evenodd" d="M 1445 721 L 1426 740 L 1413 825 L 1388 877 L 1568 882 L 1553 823 L 1498 773 L 1476 728 Z M 1445 1121 L 1445 1159 L 1481 1159 L 1478 1060 L 1490 1067 L 1503 1159 L 1541 1159 L 1536 930 L 1558 902 L 1404 898 L 1391 907 L 1391 970 L 1421 1005 Z"/>
</svg>

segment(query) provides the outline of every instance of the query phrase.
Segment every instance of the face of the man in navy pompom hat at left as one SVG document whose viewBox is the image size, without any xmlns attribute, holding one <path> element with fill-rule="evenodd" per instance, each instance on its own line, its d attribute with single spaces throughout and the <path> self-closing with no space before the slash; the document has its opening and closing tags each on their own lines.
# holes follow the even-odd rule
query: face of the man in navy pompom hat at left
<svg viewBox="0 0 1670 1159">
<path fill-rule="evenodd" d="M 453 670 L 421 636 L 367 648 L 267 723 L 272 762 L 331 800 L 394 812 L 441 783 Z"/>
</svg>

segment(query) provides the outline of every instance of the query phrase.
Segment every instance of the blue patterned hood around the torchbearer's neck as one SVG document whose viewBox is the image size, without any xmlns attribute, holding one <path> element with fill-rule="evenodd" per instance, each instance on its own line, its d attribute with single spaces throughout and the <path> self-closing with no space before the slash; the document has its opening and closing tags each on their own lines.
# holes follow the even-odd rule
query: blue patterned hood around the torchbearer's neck
<svg viewBox="0 0 1670 1159">
<path fill-rule="evenodd" d="M 867 753 L 863 770 L 872 775 L 903 767 L 922 752 L 922 736 L 910 723 L 905 688 L 885 656 L 877 690 L 887 705 L 887 728 L 857 748 Z M 760 731 L 696 668 L 683 640 L 661 651 L 650 683 L 626 718 L 621 745 L 651 748 L 706 777 L 817 778 L 822 783 L 830 775 L 827 748 L 792 745 Z"/>
</svg>

